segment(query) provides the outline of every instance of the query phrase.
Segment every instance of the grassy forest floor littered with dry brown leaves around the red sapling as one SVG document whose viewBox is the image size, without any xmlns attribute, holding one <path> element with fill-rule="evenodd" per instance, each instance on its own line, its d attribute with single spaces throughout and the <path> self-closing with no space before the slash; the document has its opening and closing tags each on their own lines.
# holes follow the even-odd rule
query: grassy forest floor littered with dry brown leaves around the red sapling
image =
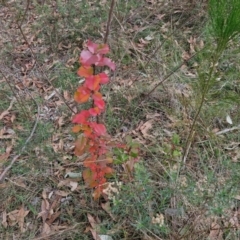
<svg viewBox="0 0 240 240">
<path fill-rule="evenodd" d="M 240 93 L 239 43 L 219 62 L 219 86 L 186 146 L 210 38 L 206 1 L 116 1 L 104 123 L 113 138 L 140 143 L 140 161 L 114 200 L 94 201 L 85 186 L 73 94 L 79 54 L 88 39 L 102 42 L 109 8 L 0 3 L 0 174 L 14 161 L 0 182 L 0 239 L 240 239 L 240 101 L 225 99 Z"/>
</svg>

